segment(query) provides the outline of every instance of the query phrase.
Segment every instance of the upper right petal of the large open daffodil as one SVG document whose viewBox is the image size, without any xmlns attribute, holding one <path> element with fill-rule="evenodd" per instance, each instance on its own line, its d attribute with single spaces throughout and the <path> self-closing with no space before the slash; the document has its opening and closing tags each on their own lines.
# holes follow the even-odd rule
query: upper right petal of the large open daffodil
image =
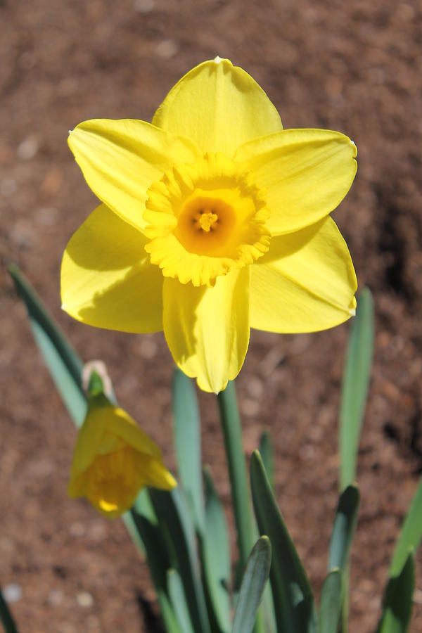
<svg viewBox="0 0 422 633">
<path fill-rule="evenodd" d="M 357 170 L 356 146 L 327 129 L 286 129 L 238 148 L 257 186 L 267 190 L 274 235 L 298 231 L 337 207 Z"/>
</svg>

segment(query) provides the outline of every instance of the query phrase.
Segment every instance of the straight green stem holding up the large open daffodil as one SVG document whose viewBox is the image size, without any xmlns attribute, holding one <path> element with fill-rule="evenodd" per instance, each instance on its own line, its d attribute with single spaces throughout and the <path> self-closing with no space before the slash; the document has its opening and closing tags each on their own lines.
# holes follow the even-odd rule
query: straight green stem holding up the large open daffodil
<svg viewBox="0 0 422 633">
<path fill-rule="evenodd" d="M 229 467 L 231 501 L 238 539 L 239 571 L 243 574 L 252 550 L 254 530 L 248 490 L 248 471 L 243 453 L 241 418 L 233 382 L 229 382 L 225 390 L 219 392 L 217 400 Z"/>
</svg>

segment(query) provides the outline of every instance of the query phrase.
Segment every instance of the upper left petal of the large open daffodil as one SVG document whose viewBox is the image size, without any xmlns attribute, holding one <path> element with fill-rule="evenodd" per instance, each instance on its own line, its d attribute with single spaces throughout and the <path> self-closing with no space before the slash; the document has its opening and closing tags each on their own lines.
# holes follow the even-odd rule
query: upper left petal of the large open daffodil
<svg viewBox="0 0 422 633">
<path fill-rule="evenodd" d="M 68 143 L 96 196 L 139 229 L 148 187 L 172 165 L 200 155 L 189 139 L 131 119 L 85 121 Z"/>
</svg>

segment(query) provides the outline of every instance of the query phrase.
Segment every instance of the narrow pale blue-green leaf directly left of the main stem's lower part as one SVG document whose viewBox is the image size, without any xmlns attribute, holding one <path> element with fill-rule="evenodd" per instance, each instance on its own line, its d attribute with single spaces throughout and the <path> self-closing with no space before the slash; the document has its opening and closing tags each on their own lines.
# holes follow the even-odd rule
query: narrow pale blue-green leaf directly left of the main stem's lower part
<svg viewBox="0 0 422 633">
<path fill-rule="evenodd" d="M 200 539 L 205 588 L 219 629 L 228 633 L 231 627 L 230 540 L 224 509 L 215 490 L 209 468 L 204 469 L 205 531 Z"/>
</svg>

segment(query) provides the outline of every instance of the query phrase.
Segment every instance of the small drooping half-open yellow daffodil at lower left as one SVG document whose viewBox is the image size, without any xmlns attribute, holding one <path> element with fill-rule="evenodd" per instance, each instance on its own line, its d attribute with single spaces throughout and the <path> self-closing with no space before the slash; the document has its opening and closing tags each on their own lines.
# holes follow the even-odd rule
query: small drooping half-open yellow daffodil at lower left
<svg viewBox="0 0 422 633">
<path fill-rule="evenodd" d="M 68 493 L 87 497 L 109 518 L 134 504 L 144 486 L 171 490 L 177 483 L 151 437 L 103 396 L 91 400 L 79 430 Z"/>
</svg>

